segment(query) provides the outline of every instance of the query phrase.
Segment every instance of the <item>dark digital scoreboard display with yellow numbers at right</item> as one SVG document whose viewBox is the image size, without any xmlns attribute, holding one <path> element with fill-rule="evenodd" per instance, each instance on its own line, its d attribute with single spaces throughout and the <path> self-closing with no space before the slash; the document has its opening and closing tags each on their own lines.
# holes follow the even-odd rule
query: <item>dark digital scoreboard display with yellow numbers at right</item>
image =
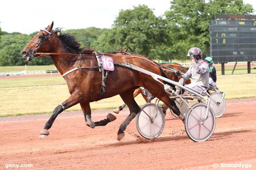
<svg viewBox="0 0 256 170">
<path fill-rule="evenodd" d="M 256 61 L 256 20 L 211 20 L 214 62 Z"/>
</svg>

